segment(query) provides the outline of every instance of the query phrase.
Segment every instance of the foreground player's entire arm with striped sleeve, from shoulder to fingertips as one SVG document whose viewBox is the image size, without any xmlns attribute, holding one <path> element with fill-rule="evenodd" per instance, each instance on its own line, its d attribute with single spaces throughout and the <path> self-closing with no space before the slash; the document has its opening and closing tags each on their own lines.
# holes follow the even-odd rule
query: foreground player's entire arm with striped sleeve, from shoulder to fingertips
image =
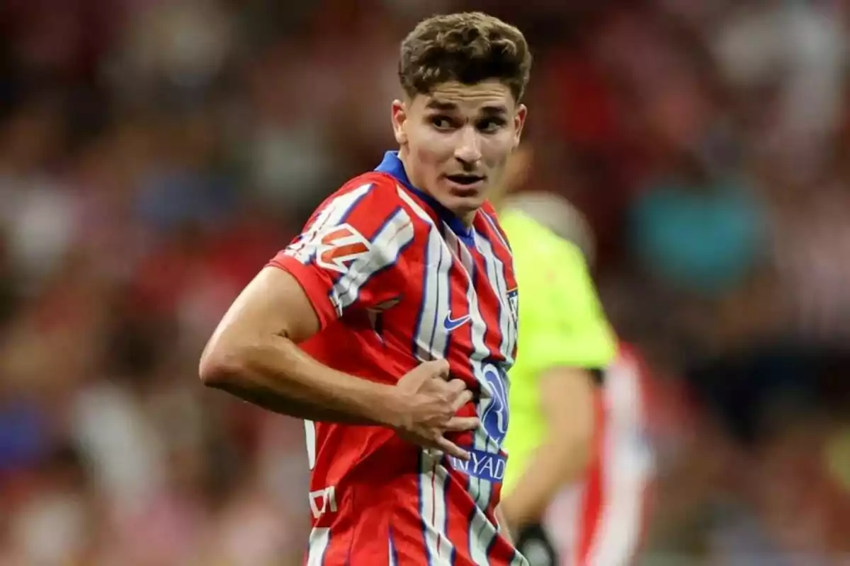
<svg viewBox="0 0 850 566">
<path fill-rule="evenodd" d="M 377 384 L 327 367 L 298 346 L 349 308 L 368 309 L 397 294 L 405 280 L 401 252 L 414 231 L 394 191 L 364 185 L 331 199 L 230 306 L 201 356 L 201 381 L 273 412 L 386 426 L 466 459 L 444 434 L 474 429 L 478 420 L 456 417 L 472 393 L 462 380 L 448 380 L 447 361 L 422 363 L 394 385 Z M 331 220 L 339 218 L 343 223 Z"/>
</svg>

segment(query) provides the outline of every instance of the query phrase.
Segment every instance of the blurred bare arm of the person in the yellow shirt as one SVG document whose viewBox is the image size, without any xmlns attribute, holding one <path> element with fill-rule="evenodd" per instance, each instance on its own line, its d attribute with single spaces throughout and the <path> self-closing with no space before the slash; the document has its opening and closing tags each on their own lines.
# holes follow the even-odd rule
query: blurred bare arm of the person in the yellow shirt
<svg viewBox="0 0 850 566">
<path fill-rule="evenodd" d="M 556 367 L 541 376 L 541 402 L 549 434 L 516 487 L 501 502 L 514 532 L 538 523 L 562 486 L 580 479 L 587 468 L 595 387 L 583 369 Z"/>
</svg>

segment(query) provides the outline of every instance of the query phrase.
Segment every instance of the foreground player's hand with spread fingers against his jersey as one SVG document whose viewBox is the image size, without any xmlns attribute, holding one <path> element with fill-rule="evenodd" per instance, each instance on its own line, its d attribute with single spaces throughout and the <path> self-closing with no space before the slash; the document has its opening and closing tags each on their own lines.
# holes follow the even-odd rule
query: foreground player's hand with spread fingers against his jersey
<svg viewBox="0 0 850 566">
<path fill-rule="evenodd" d="M 456 416 L 472 398 L 461 379 L 449 378 L 448 361 L 426 361 L 395 386 L 392 427 L 414 444 L 468 460 L 469 453 L 447 440 L 445 433 L 478 428 L 478 418 Z"/>
</svg>

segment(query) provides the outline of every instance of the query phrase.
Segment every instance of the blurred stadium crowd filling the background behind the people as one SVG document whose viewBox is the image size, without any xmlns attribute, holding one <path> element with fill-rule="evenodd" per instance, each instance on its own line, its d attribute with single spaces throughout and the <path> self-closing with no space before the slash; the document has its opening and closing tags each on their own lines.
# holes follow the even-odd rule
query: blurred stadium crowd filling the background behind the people
<svg viewBox="0 0 850 566">
<path fill-rule="evenodd" d="M 583 211 L 652 367 L 642 563 L 850 551 L 846 0 L 3 0 L 0 564 L 300 557 L 303 429 L 199 352 L 456 8 L 530 38 L 526 186 Z"/>
</svg>

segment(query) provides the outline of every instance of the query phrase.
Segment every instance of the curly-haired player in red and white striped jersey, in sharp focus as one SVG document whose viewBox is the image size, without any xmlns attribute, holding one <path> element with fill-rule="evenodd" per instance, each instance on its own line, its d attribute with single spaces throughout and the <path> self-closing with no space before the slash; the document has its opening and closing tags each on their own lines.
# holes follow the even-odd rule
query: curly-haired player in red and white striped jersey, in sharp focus
<svg viewBox="0 0 850 566">
<path fill-rule="evenodd" d="M 488 15 L 417 25 L 399 151 L 316 210 L 201 358 L 207 385 L 305 419 L 310 565 L 526 564 L 496 518 L 517 285 L 487 198 L 530 64 Z"/>
</svg>

